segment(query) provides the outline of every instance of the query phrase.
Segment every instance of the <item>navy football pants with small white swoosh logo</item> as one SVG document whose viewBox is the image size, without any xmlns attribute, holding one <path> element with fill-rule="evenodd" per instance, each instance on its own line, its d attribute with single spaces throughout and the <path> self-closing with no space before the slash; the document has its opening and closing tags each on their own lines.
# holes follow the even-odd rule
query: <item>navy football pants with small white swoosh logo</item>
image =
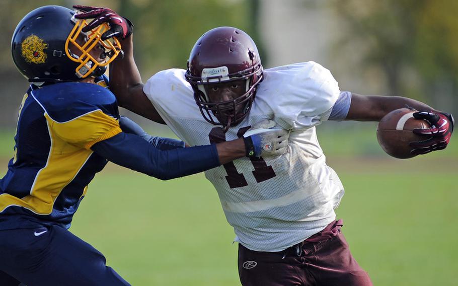
<svg viewBox="0 0 458 286">
<path fill-rule="evenodd" d="M 0 231 L 0 285 L 130 285 L 102 253 L 58 227 Z"/>
</svg>

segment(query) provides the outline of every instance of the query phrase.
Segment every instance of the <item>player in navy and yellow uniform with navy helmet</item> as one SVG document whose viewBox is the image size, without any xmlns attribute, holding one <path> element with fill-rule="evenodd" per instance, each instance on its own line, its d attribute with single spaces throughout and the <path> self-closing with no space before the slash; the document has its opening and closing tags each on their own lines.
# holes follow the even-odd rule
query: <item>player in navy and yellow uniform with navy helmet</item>
<svg viewBox="0 0 458 286">
<path fill-rule="evenodd" d="M 118 38 L 130 35 L 131 24 L 88 26 L 74 16 L 64 7 L 41 7 L 13 34 L 13 60 L 32 84 L 19 108 L 14 158 L 0 180 L 2 286 L 128 285 L 99 251 L 67 230 L 107 161 L 167 180 L 286 150 L 282 129 L 191 148 L 146 134 L 119 115 L 104 76 L 121 56 Z M 274 147 L 263 148 L 267 143 Z"/>
</svg>

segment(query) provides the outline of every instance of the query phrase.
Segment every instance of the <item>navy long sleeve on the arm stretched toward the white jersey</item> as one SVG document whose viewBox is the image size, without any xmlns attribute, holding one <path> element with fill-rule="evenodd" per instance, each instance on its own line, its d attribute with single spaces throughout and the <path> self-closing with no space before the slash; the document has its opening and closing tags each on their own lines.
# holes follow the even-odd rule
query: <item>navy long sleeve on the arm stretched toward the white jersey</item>
<svg viewBox="0 0 458 286">
<path fill-rule="evenodd" d="M 200 173 L 220 165 L 216 145 L 162 151 L 138 135 L 121 132 L 91 148 L 103 158 L 161 180 Z"/>
</svg>

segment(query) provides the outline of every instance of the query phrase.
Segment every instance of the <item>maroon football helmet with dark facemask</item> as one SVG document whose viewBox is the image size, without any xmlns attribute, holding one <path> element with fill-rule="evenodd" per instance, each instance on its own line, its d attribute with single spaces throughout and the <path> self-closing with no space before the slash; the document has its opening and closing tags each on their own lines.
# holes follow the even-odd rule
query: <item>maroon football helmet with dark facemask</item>
<svg viewBox="0 0 458 286">
<path fill-rule="evenodd" d="M 256 86 L 263 79 L 262 71 L 258 48 L 251 37 L 237 28 L 218 27 L 203 34 L 194 44 L 185 77 L 205 120 L 222 125 L 226 131 L 250 112 Z M 209 102 L 205 85 L 240 80 L 246 82 L 244 94 L 234 100 Z"/>
</svg>

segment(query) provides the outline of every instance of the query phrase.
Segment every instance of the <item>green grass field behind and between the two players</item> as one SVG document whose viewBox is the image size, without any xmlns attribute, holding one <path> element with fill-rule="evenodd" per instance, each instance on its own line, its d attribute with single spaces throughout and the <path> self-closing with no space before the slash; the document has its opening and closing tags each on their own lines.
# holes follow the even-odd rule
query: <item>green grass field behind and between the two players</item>
<svg viewBox="0 0 458 286">
<path fill-rule="evenodd" d="M 367 158 L 352 144 L 343 144 L 345 153 L 333 149 L 331 133 L 321 142 L 346 189 L 338 217 L 374 285 L 455 285 L 455 147 L 412 160 Z M 7 142 L 0 136 L 3 171 Z M 70 230 L 133 285 L 240 285 L 234 232 L 201 174 L 164 182 L 109 165 L 90 184 Z"/>
</svg>

